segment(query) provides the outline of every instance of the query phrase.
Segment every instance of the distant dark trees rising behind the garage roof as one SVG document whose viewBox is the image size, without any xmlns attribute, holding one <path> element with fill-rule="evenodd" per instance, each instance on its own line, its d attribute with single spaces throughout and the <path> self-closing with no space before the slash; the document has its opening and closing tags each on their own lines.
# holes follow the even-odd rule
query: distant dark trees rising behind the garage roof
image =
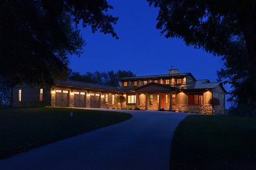
<svg viewBox="0 0 256 170">
<path fill-rule="evenodd" d="M 123 77 L 135 76 L 131 71 L 108 71 L 99 72 L 95 71 L 95 73 L 87 72 L 85 75 L 81 75 L 77 72 L 72 72 L 70 74 L 70 80 L 81 81 L 81 82 L 91 82 L 96 84 L 106 84 L 110 86 L 119 86 L 118 79 Z"/>
</svg>

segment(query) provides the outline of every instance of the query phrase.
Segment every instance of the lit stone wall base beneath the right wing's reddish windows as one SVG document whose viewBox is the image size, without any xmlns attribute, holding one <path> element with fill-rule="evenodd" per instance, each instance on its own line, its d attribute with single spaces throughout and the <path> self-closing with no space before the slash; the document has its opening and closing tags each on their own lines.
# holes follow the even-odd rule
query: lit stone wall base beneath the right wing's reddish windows
<svg viewBox="0 0 256 170">
<path fill-rule="evenodd" d="M 213 114 L 211 105 L 173 105 L 176 112 L 194 112 L 201 114 Z"/>
</svg>

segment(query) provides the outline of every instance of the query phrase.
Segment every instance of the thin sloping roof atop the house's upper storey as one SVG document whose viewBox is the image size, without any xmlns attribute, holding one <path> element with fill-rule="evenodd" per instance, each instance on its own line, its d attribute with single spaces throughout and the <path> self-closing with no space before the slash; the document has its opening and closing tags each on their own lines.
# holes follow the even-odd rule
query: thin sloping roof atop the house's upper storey
<svg viewBox="0 0 256 170">
<path fill-rule="evenodd" d="M 134 79 L 143 79 L 143 78 L 165 78 L 165 77 L 172 77 L 172 76 L 194 76 L 191 73 L 177 73 L 177 74 L 166 74 L 166 75 L 149 75 L 149 76 L 131 76 L 131 77 L 123 77 L 119 78 L 119 80 L 134 80 Z M 194 78 L 196 80 L 196 78 Z"/>
</svg>

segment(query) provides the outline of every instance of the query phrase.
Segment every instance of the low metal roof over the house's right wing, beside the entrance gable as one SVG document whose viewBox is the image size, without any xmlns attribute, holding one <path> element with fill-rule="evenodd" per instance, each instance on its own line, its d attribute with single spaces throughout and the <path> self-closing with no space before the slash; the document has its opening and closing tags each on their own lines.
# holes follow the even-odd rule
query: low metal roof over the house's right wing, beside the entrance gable
<svg viewBox="0 0 256 170">
<path fill-rule="evenodd" d="M 221 86 L 221 88 L 223 88 L 223 84 L 221 82 L 209 82 L 209 80 L 196 80 L 194 82 L 190 82 L 185 85 L 178 85 L 174 87 L 182 90 L 192 90 L 192 89 L 213 89 L 219 85 Z M 224 92 L 226 92 L 224 88 L 223 90 Z"/>
</svg>

